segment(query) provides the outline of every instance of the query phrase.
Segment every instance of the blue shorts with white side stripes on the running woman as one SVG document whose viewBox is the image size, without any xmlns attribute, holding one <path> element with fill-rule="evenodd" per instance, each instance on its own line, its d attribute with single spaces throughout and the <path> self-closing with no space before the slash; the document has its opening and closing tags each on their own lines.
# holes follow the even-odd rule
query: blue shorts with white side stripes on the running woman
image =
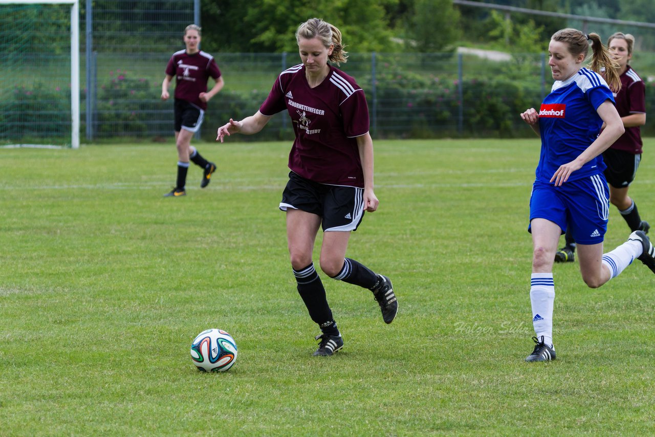
<svg viewBox="0 0 655 437">
<path fill-rule="evenodd" d="M 534 181 L 530 197 L 530 221 L 543 218 L 558 225 L 562 233 L 571 226 L 578 244 L 603 242 L 609 217 L 609 190 L 603 174 L 565 182 L 561 187 Z M 531 227 L 528 226 L 528 232 Z"/>
</svg>

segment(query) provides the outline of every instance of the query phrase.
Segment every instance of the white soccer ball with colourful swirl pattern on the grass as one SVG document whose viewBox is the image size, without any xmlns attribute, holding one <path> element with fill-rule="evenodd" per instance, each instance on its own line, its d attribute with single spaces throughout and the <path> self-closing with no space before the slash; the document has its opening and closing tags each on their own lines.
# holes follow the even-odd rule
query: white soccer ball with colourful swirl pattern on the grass
<svg viewBox="0 0 655 437">
<path fill-rule="evenodd" d="M 226 371 L 236 361 L 236 343 L 223 330 L 206 330 L 191 344 L 193 364 L 202 371 Z"/>
</svg>

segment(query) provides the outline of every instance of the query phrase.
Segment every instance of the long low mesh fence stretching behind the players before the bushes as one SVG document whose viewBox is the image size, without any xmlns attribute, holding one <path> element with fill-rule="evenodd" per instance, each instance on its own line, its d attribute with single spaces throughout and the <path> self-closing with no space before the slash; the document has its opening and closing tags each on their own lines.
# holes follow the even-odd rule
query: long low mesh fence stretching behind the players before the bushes
<svg viewBox="0 0 655 437">
<path fill-rule="evenodd" d="M 171 50 L 169 50 L 170 52 Z M 96 138 L 160 138 L 172 134 L 172 102 L 159 100 L 168 52 L 97 55 Z M 230 118 L 252 115 L 276 76 L 299 63 L 297 53 L 214 53 L 225 87 L 210 101 L 202 138 Z M 519 118 L 550 91 L 545 54 L 352 53 L 341 69 L 365 90 L 376 138 L 515 137 L 532 131 Z M 639 71 L 645 78 L 649 71 Z M 655 82 L 649 83 L 649 89 Z M 653 93 L 648 93 L 653 100 Z M 655 105 L 655 102 L 653 102 Z M 654 106 L 655 107 L 655 106 Z M 646 130 L 647 133 L 647 130 Z M 291 138 L 288 116 L 279 114 L 257 138 Z M 242 141 L 250 138 L 240 137 Z"/>
</svg>

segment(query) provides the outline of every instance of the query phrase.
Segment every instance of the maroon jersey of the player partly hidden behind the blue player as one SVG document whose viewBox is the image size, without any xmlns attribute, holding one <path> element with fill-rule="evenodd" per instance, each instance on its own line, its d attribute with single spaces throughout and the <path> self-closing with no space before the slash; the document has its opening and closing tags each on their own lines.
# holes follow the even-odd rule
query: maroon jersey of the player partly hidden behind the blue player
<svg viewBox="0 0 655 437">
<path fill-rule="evenodd" d="M 646 85 L 635 70 L 627 66 L 626 72 L 621 75 L 621 90 L 616 93 L 616 110 L 618 115 L 646 113 Z M 612 149 L 619 149 L 638 155 L 641 153 L 641 129 L 639 126 L 626 128 L 626 132 L 619 137 Z"/>
</svg>

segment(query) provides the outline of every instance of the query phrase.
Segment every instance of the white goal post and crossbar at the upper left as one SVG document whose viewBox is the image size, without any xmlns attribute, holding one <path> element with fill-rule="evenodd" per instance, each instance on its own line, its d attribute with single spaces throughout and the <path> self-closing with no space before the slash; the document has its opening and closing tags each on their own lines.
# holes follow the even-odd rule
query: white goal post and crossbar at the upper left
<svg viewBox="0 0 655 437">
<path fill-rule="evenodd" d="M 71 147 L 80 145 L 79 0 L 0 0 L 0 5 L 71 5 Z M 37 145 L 33 145 L 38 147 Z"/>
</svg>

